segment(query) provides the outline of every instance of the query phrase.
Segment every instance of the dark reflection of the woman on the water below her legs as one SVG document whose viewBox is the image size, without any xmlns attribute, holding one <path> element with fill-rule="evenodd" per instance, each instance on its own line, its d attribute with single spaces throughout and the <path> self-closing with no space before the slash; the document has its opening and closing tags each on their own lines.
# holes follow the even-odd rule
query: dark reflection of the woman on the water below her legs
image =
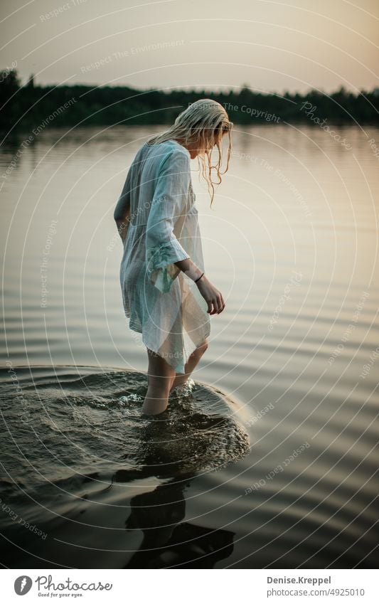
<svg viewBox="0 0 379 604">
<path fill-rule="evenodd" d="M 187 398 L 186 410 L 191 408 L 191 396 Z M 183 410 L 181 411 L 183 413 Z M 190 423 L 182 415 L 179 427 L 190 428 Z M 178 420 L 178 418 L 176 418 Z M 230 418 L 213 417 L 204 413 L 191 413 L 192 438 L 183 447 L 180 460 L 174 460 L 173 451 L 167 443 L 177 446 L 178 433 L 174 440 L 172 420 L 168 423 L 160 420 L 146 426 L 146 465 L 141 469 L 142 475 L 176 475 L 165 484 L 160 484 L 154 490 L 137 494 L 130 501 L 131 514 L 126 522 L 127 530 L 139 529 L 144 538 L 139 551 L 134 553 L 124 568 L 166 568 L 181 566 L 188 568 L 212 568 L 215 562 L 227 558 L 233 551 L 233 535 L 231 531 L 211 529 L 183 522 L 186 516 L 184 493 L 190 486 L 191 479 L 196 473 L 186 475 L 186 469 L 193 467 L 193 456 L 196 457 L 199 470 L 214 461 L 215 436 L 220 447 L 220 441 L 227 439 L 228 433 L 233 432 L 235 425 Z M 174 423 L 174 425 L 176 425 Z M 198 430 L 203 435 L 199 438 Z M 193 432 L 195 431 L 196 434 Z M 184 430 L 180 438 L 183 443 Z M 188 437 L 187 437 L 188 438 Z M 196 442 L 195 442 L 196 441 Z M 231 444 L 231 443 L 230 443 Z M 237 444 L 237 443 L 235 443 Z M 188 446 L 189 445 L 189 446 Z M 186 451 L 188 457 L 186 457 Z M 219 449 L 219 452 L 221 450 Z M 222 454 L 225 455 L 225 452 Z M 230 452 L 232 455 L 232 452 Z M 218 455 L 219 457 L 219 455 Z M 228 461 L 228 459 L 225 459 Z M 196 465 L 196 461 L 195 461 Z M 194 468 L 193 468 L 194 469 Z M 114 475 L 114 482 L 129 482 L 132 476 L 127 471 L 119 470 Z"/>
</svg>

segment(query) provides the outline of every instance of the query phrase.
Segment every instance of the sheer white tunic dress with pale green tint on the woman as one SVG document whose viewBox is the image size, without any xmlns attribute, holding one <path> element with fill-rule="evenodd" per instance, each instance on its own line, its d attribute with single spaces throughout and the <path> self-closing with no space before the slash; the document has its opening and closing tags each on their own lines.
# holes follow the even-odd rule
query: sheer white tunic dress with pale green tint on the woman
<svg viewBox="0 0 379 604">
<path fill-rule="evenodd" d="M 174 264 L 191 258 L 205 270 L 190 159 L 175 140 L 145 143 L 114 209 L 128 223 L 119 279 L 129 328 L 178 373 L 210 334 L 205 300 Z"/>
</svg>

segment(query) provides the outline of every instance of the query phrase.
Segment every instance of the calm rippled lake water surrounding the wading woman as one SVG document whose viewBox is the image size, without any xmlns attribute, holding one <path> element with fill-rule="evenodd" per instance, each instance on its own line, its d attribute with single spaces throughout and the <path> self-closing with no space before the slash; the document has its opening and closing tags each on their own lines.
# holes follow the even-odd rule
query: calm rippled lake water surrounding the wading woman
<svg viewBox="0 0 379 604">
<path fill-rule="evenodd" d="M 2 149 L 3 563 L 376 568 L 379 129 L 236 127 L 212 209 L 193 161 L 226 307 L 146 423 L 112 215 L 154 130 Z"/>
</svg>

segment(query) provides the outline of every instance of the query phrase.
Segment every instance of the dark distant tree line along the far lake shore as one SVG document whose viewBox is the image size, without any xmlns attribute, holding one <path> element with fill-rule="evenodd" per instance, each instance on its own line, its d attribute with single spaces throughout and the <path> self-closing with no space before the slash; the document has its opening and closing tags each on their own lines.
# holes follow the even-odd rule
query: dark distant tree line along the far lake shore
<svg viewBox="0 0 379 604">
<path fill-rule="evenodd" d="M 309 124 L 377 124 L 379 88 L 354 94 L 341 87 L 327 95 L 318 90 L 262 93 L 242 85 L 239 91 L 137 90 L 128 86 L 47 85 L 31 75 L 21 85 L 17 71 L 0 72 L 0 129 L 111 124 L 171 124 L 176 115 L 199 98 L 225 107 L 235 124 L 307 122 Z"/>
</svg>

